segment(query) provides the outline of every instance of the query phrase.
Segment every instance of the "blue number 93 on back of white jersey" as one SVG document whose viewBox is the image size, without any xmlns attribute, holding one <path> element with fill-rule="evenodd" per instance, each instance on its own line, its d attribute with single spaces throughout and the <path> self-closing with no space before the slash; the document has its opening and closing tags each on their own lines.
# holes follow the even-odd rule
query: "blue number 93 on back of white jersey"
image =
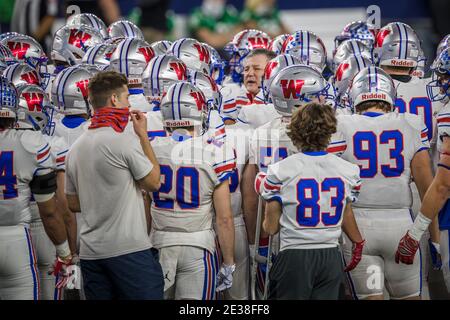
<svg viewBox="0 0 450 320">
<path fill-rule="evenodd" d="M 379 164 L 378 149 L 380 145 L 391 146 L 389 148 L 391 164 Z M 377 136 L 372 131 L 359 131 L 353 136 L 353 152 L 358 160 L 365 164 L 359 164 L 361 178 L 373 178 L 381 171 L 386 178 L 399 177 L 405 169 L 405 158 L 403 157 L 403 135 L 398 130 L 383 131 Z"/>
</svg>

